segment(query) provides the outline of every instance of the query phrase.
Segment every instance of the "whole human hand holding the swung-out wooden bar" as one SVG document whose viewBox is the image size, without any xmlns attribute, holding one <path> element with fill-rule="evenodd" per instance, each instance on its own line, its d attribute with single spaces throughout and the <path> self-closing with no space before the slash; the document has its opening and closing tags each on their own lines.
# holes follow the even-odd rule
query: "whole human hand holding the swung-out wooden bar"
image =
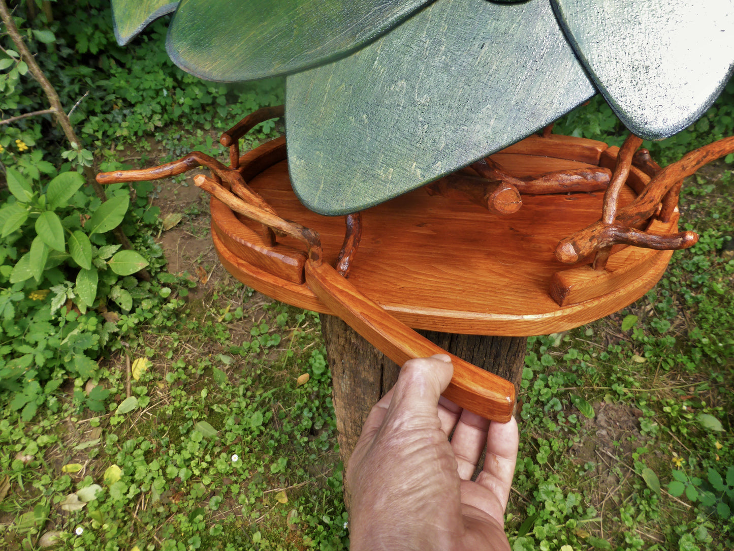
<svg viewBox="0 0 734 551">
<path fill-rule="evenodd" d="M 453 372 L 443 354 L 407 361 L 372 408 L 346 470 L 352 551 L 509 550 L 517 422 L 490 423 L 440 397 Z"/>
</svg>

